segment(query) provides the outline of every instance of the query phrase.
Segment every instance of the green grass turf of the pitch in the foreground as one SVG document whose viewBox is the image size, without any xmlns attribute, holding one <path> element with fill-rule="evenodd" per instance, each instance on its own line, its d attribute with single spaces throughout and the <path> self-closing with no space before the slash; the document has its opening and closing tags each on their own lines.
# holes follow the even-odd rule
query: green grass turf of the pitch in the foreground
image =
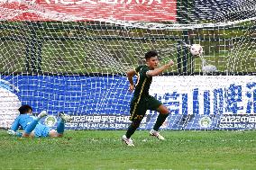
<svg viewBox="0 0 256 170">
<path fill-rule="evenodd" d="M 123 130 L 68 130 L 62 139 L 19 139 L 0 130 L 0 169 L 246 170 L 256 166 L 256 131 L 149 131 L 125 146 Z"/>
</svg>

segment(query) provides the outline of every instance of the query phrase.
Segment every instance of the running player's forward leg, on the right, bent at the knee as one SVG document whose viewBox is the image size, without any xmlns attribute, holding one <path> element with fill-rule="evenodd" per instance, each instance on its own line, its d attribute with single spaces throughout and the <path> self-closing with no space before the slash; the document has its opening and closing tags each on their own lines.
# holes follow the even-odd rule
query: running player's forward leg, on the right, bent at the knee
<svg viewBox="0 0 256 170">
<path fill-rule="evenodd" d="M 152 96 L 149 98 L 149 104 L 150 110 L 159 112 L 157 121 L 155 122 L 153 129 L 150 131 L 150 135 L 157 137 L 160 140 L 163 140 L 164 138 L 160 135 L 158 130 L 160 129 L 160 126 L 163 124 L 166 118 L 169 116 L 169 110 L 165 105 L 160 103 L 160 101 Z"/>
</svg>

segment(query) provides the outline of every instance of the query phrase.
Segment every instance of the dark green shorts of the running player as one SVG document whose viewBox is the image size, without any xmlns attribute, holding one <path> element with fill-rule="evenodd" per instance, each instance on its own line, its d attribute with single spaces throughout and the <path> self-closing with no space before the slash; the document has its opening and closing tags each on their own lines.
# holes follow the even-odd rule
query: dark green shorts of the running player
<svg viewBox="0 0 256 170">
<path fill-rule="evenodd" d="M 147 110 L 157 111 L 161 104 L 151 95 L 142 96 L 140 99 L 133 97 L 130 104 L 130 121 L 142 121 Z"/>
</svg>

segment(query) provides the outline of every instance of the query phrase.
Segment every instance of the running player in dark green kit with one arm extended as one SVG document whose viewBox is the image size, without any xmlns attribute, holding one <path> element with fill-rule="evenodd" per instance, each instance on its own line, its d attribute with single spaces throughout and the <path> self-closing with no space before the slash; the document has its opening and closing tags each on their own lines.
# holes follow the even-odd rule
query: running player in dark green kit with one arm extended
<svg viewBox="0 0 256 170">
<path fill-rule="evenodd" d="M 152 97 L 149 94 L 149 89 L 151 86 L 152 76 L 158 76 L 165 69 L 171 67 L 174 62 L 170 60 L 167 65 L 158 67 L 158 53 L 154 50 L 147 52 L 145 54 L 145 59 L 146 65 L 139 66 L 127 72 L 127 77 L 130 83 L 129 89 L 131 92 L 135 89 L 133 99 L 130 104 L 130 121 L 132 121 L 132 123 L 128 127 L 126 134 L 122 137 L 123 142 L 128 146 L 134 146 L 131 136 L 135 130 L 139 128 L 147 110 L 160 112 L 153 129 L 150 131 L 151 136 L 160 140 L 163 140 L 164 138 L 160 135 L 158 130 L 169 115 L 168 108 Z M 133 83 L 133 76 L 135 75 L 138 76 L 136 85 Z"/>
</svg>

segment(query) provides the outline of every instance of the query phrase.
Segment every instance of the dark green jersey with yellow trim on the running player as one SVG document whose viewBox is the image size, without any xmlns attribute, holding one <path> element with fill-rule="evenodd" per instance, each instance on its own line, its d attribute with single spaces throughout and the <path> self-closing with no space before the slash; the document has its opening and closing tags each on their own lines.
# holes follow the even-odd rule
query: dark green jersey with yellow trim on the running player
<svg viewBox="0 0 256 170">
<path fill-rule="evenodd" d="M 147 65 L 139 66 L 135 69 L 138 76 L 137 83 L 135 85 L 134 97 L 141 98 L 142 96 L 149 95 L 149 90 L 151 87 L 152 77 L 147 76 L 147 71 L 150 70 L 150 67 Z"/>
</svg>

